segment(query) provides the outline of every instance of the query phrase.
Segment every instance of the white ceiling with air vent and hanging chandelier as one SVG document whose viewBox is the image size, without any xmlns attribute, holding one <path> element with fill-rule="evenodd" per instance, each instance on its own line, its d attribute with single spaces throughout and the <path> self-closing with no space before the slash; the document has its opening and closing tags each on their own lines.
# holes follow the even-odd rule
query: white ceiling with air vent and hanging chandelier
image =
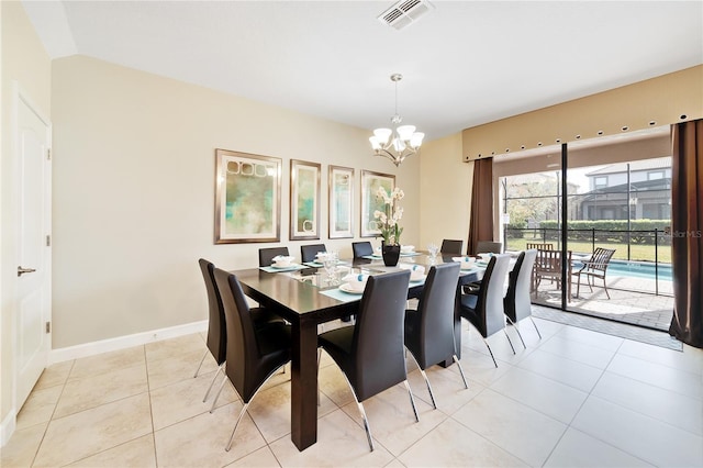
<svg viewBox="0 0 703 468">
<path fill-rule="evenodd" d="M 364 129 L 434 140 L 703 64 L 703 1 L 23 1 L 52 58 L 81 54 Z"/>
</svg>

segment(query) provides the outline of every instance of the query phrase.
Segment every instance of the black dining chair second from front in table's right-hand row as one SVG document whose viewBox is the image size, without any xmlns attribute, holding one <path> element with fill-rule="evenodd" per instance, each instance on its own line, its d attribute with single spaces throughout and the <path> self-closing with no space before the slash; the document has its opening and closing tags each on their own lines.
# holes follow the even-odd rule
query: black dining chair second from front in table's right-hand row
<svg viewBox="0 0 703 468">
<path fill-rule="evenodd" d="M 432 405 L 437 409 L 425 369 L 453 359 L 459 366 L 464 387 L 469 388 L 457 357 L 454 339 L 454 311 L 460 265 L 442 264 L 429 268 L 417 310 L 405 311 L 405 347 L 425 379 Z"/>
</svg>

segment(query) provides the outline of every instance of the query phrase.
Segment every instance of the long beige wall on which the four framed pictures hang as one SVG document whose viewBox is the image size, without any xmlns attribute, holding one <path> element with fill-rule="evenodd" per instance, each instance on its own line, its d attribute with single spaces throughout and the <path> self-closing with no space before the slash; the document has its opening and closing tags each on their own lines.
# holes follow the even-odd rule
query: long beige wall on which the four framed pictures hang
<svg viewBox="0 0 703 468">
<path fill-rule="evenodd" d="M 53 64 L 54 348 L 207 319 L 197 259 L 258 265 L 270 244 L 213 245 L 214 149 L 282 159 L 282 244 L 289 242 L 290 159 L 397 174 L 404 241 L 417 243 L 420 161 L 371 156 L 369 132 L 96 59 Z M 377 241 L 373 241 L 378 243 Z M 311 242 L 308 242 L 311 243 Z"/>
</svg>

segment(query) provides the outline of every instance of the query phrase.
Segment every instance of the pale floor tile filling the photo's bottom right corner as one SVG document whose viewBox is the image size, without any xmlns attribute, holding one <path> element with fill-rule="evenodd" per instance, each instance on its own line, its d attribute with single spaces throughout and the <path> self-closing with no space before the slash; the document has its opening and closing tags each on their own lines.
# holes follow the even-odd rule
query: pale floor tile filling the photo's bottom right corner
<svg viewBox="0 0 703 468">
<path fill-rule="evenodd" d="M 591 397 L 571 424 L 656 466 L 703 466 L 703 437 Z"/>
</svg>

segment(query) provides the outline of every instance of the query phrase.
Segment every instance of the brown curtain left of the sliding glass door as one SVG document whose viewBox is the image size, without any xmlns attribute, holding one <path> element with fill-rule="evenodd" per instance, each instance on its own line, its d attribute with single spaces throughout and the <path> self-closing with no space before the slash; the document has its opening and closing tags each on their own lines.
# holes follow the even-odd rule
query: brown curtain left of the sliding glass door
<svg viewBox="0 0 703 468">
<path fill-rule="evenodd" d="M 467 254 L 477 253 L 479 241 L 493 241 L 493 158 L 473 161 Z"/>
</svg>

